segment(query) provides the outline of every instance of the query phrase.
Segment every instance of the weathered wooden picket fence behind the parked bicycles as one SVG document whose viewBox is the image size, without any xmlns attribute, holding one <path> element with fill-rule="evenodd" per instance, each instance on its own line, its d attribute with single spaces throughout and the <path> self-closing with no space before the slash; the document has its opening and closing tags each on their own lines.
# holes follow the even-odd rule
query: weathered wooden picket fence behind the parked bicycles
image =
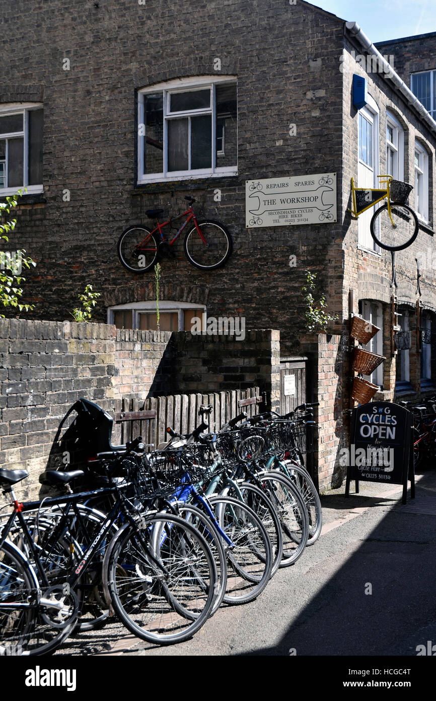
<svg viewBox="0 0 436 701">
<path fill-rule="evenodd" d="M 204 421 L 209 422 L 210 430 L 218 430 L 230 418 L 246 411 L 248 416 L 266 410 L 265 396 L 258 387 L 246 390 L 231 390 L 211 394 L 168 395 L 150 397 L 145 400 L 122 399 L 115 404 L 115 423 L 112 444 L 125 444 L 126 441 L 141 435 L 143 442 L 153 444 L 153 449 L 169 439 L 167 427 L 176 433 L 190 433 L 202 423 L 199 408 L 211 404 L 212 411 Z M 143 412 L 155 418 L 143 418 Z"/>
</svg>

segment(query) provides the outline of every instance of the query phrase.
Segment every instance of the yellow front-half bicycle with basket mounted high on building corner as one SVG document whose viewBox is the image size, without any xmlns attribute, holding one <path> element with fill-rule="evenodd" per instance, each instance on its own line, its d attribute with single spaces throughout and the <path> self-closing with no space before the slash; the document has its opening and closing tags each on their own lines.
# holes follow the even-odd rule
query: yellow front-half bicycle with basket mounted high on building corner
<svg viewBox="0 0 436 701">
<path fill-rule="evenodd" d="M 388 251 L 401 251 L 412 245 L 418 236 L 418 219 L 414 210 L 406 204 L 413 186 L 407 182 L 393 179 L 392 175 L 377 175 L 380 187 L 362 188 L 354 186 L 354 178 L 351 178 L 351 196 L 354 219 L 370 207 L 374 207 L 382 200 L 386 204 L 374 212 L 371 219 L 370 231 L 374 241 Z"/>
</svg>

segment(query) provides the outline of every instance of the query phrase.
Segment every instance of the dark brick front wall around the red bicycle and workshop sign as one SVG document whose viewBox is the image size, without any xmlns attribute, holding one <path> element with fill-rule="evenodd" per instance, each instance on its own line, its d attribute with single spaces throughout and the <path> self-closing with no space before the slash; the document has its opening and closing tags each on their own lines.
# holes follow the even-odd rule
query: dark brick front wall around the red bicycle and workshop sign
<svg viewBox="0 0 436 701">
<path fill-rule="evenodd" d="M 176 259 L 162 263 L 161 299 L 206 304 L 216 317 L 244 315 L 247 328 L 281 329 L 283 352 L 293 352 L 308 266 L 341 313 L 340 290 L 324 269 L 342 261 L 340 214 L 337 224 L 245 226 L 246 179 L 338 172 L 340 191 L 341 20 L 283 0 L 105 0 L 98 8 L 51 0 L 31 13 L 17 0 L 2 15 L 0 104 L 39 100 L 44 107 L 43 198 L 27 199 L 16 229 L 37 262 L 25 285 L 36 304 L 31 318 L 68 318 L 87 283 L 101 292 L 99 321 L 107 306 L 155 299 L 153 273 L 127 273 L 116 243 L 130 224 L 150 224 L 150 207 L 178 212 L 186 194 L 199 200 L 200 216 L 227 226 L 234 252 L 222 270 L 206 273 L 188 264 L 178 241 Z M 192 41 L 181 41 L 192 34 L 192 18 Z M 239 175 L 135 186 L 136 90 L 216 74 L 237 76 Z"/>
</svg>

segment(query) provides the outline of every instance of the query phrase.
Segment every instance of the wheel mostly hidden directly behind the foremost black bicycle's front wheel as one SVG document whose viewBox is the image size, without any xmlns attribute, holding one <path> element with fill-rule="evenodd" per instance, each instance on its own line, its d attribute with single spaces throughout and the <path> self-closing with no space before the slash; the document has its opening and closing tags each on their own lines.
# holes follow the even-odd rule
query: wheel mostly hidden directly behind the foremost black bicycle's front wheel
<svg viewBox="0 0 436 701">
<path fill-rule="evenodd" d="M 185 519 L 188 521 L 192 526 L 194 526 L 199 533 L 202 534 L 202 536 L 205 538 L 206 543 L 209 545 L 211 549 L 211 553 L 213 555 L 213 559 L 215 560 L 216 564 L 216 571 L 217 571 L 217 583 L 215 587 L 215 598 L 213 600 L 213 606 L 211 609 L 210 615 L 213 615 L 220 605 L 223 603 L 223 597 L 225 595 L 225 590 L 227 587 L 227 562 L 226 562 L 226 557 L 225 557 L 225 550 L 223 547 L 223 543 L 221 542 L 220 535 L 216 529 L 215 524 L 211 522 L 211 519 L 202 512 L 201 509 L 199 509 L 197 506 L 194 506 L 192 504 L 177 504 L 176 505 L 176 510 L 177 514 L 181 516 L 181 518 Z M 164 524 L 160 525 L 160 529 L 153 529 L 153 537 L 152 537 L 152 544 L 153 544 L 153 551 L 155 554 L 157 554 L 157 557 L 159 557 L 160 554 L 160 549 L 165 549 L 165 543 L 160 543 L 162 542 L 162 527 Z M 194 613 L 191 613 L 187 609 L 183 611 L 183 615 L 186 616 L 186 618 L 196 618 L 197 615 Z"/>
</svg>

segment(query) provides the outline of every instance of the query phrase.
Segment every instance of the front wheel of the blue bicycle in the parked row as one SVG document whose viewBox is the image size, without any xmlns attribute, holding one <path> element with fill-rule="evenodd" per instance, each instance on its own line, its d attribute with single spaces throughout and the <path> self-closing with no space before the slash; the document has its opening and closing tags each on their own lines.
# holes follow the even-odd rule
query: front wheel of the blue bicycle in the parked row
<svg viewBox="0 0 436 701">
<path fill-rule="evenodd" d="M 226 604 L 253 601 L 267 586 L 272 571 L 272 546 L 262 521 L 248 506 L 229 496 L 212 496 L 220 529 L 232 540 L 227 552 Z"/>
</svg>

